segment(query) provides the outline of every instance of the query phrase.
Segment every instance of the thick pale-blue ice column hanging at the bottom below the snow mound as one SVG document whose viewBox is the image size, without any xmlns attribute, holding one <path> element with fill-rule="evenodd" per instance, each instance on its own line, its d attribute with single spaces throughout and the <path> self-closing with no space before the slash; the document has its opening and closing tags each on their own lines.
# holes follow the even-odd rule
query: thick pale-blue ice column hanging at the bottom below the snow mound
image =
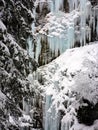
<svg viewBox="0 0 98 130">
<path fill-rule="evenodd" d="M 45 107 L 45 130 L 59 130 L 60 126 L 60 115 L 57 110 L 57 106 L 54 105 L 50 108 L 51 95 L 46 95 L 46 107 Z"/>
</svg>

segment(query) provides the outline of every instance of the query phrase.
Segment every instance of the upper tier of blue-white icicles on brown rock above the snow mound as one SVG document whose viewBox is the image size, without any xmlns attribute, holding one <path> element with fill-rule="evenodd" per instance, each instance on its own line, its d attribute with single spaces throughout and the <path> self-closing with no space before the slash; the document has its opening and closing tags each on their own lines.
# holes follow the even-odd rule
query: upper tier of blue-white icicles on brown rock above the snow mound
<svg viewBox="0 0 98 130">
<path fill-rule="evenodd" d="M 39 65 L 49 63 L 67 48 L 83 46 L 98 39 L 98 6 L 93 7 L 89 0 L 66 2 L 69 12 L 64 11 L 64 0 L 35 1 L 34 22 L 31 27 L 36 42 L 29 38 L 28 44 L 30 56 L 35 58 Z M 36 9 L 39 7 L 40 13 L 43 13 L 46 5 L 50 11 L 45 17 L 46 23 L 37 27 L 35 22 L 39 14 Z"/>
</svg>

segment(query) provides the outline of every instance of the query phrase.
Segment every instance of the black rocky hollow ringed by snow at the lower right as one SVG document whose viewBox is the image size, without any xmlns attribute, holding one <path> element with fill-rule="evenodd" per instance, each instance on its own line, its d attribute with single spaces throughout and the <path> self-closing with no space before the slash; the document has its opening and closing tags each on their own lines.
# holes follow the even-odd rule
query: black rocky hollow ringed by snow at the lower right
<svg viewBox="0 0 98 130">
<path fill-rule="evenodd" d="M 78 121 L 79 123 L 91 126 L 95 120 L 98 120 L 98 103 L 94 105 L 86 99 L 83 99 L 83 102 L 86 103 L 87 106 L 79 107 L 77 111 Z"/>
</svg>

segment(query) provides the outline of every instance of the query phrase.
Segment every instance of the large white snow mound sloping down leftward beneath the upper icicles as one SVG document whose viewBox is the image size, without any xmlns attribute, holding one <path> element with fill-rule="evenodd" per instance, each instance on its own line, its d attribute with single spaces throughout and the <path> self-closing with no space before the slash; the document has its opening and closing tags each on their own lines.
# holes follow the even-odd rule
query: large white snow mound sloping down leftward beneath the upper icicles
<svg viewBox="0 0 98 130">
<path fill-rule="evenodd" d="M 42 76 L 44 86 L 58 82 L 59 89 L 76 91 L 88 100 L 98 100 L 98 44 L 68 49 L 53 62 L 40 67 L 37 73 Z M 53 85 L 52 85 L 53 86 Z M 57 87 L 53 87 L 57 89 Z M 94 91 L 95 90 L 95 91 Z M 88 93 L 88 94 L 87 94 Z"/>
</svg>

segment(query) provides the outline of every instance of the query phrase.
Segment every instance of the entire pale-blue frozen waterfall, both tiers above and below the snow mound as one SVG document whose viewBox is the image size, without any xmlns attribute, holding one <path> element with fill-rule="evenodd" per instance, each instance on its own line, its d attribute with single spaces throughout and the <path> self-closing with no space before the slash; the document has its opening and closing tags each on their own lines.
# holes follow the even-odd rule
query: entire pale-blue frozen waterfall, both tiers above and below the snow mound
<svg viewBox="0 0 98 130">
<path fill-rule="evenodd" d="M 28 39 L 28 52 L 40 66 L 49 63 L 68 48 L 84 46 L 98 40 L 98 6 L 93 7 L 89 0 L 67 0 L 67 2 L 68 12 L 65 12 L 64 0 L 35 1 L 34 19 L 37 21 L 40 15 L 43 23 L 40 25 L 38 21 L 39 26 L 32 23 L 32 34 L 35 40 Z M 50 13 L 46 15 L 44 21 L 45 6 Z M 36 12 L 37 8 L 39 12 Z M 36 102 L 35 97 L 33 100 Z M 25 104 L 24 102 L 24 109 L 28 113 Z M 61 118 L 58 104 L 53 105 L 52 94 L 46 93 L 43 111 L 45 130 L 71 130 L 74 117 L 70 117 L 72 121 L 67 120 L 67 115 Z"/>
</svg>

